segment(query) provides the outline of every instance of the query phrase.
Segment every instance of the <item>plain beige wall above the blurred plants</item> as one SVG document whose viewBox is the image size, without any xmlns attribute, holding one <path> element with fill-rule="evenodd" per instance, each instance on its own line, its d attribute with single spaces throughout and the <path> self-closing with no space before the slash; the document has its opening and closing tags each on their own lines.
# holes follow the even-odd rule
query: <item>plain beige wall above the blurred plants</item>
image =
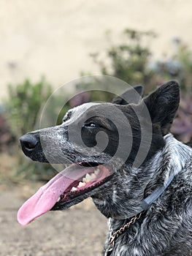
<svg viewBox="0 0 192 256">
<path fill-rule="evenodd" d="M 45 75 L 55 86 L 99 72 L 89 53 L 107 46 L 126 27 L 158 33 L 156 56 L 172 51 L 171 39 L 192 41 L 191 0 L 0 0 L 0 98 L 7 83 Z"/>
</svg>

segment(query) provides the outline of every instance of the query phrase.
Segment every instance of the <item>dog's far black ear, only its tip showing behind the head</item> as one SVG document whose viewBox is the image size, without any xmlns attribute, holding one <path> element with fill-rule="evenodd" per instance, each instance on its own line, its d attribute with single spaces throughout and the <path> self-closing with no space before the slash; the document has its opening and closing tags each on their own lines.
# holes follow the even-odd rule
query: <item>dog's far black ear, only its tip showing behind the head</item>
<svg viewBox="0 0 192 256">
<path fill-rule="evenodd" d="M 130 103 L 139 103 L 142 96 L 143 87 L 142 86 L 134 86 L 131 89 L 123 92 L 120 96 L 112 99 L 112 103 L 118 105 L 127 105 Z"/>
</svg>

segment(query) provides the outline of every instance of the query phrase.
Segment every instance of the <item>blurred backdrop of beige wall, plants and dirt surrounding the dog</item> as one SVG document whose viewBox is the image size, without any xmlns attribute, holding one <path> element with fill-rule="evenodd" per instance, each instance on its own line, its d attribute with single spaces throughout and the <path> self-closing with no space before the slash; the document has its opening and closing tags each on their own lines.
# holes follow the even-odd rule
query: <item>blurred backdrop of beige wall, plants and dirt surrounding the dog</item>
<svg viewBox="0 0 192 256">
<path fill-rule="evenodd" d="M 28 227 L 16 220 L 23 201 L 55 175 L 50 165 L 26 159 L 18 138 L 36 127 L 39 110 L 59 86 L 103 74 L 142 84 L 146 95 L 177 79 L 182 99 L 172 133 L 191 143 L 191 10 L 190 0 L 1 1 L 0 255 L 101 255 L 106 220 L 91 200 Z M 112 98 L 99 91 L 78 94 L 87 86 L 73 83 L 55 97 L 66 102 L 59 113 L 52 105 L 58 124 L 68 108 Z M 77 97 L 69 99 L 71 90 Z"/>
</svg>

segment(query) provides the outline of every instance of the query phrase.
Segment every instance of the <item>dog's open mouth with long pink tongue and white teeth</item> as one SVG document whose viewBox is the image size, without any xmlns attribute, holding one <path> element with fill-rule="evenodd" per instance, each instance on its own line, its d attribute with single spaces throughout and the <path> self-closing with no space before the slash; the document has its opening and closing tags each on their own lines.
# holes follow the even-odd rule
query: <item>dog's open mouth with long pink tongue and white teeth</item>
<svg viewBox="0 0 192 256">
<path fill-rule="evenodd" d="M 86 193 L 104 184 L 111 175 L 112 169 L 107 165 L 93 162 L 69 165 L 20 207 L 18 222 L 27 225 L 47 211 L 64 208 L 71 200 L 82 196 L 85 199 Z"/>
</svg>

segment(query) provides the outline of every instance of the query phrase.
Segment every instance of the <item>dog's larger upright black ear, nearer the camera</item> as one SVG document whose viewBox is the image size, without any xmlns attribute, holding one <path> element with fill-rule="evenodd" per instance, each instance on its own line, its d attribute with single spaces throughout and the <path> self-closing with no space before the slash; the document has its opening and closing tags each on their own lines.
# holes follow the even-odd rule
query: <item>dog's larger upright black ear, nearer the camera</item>
<svg viewBox="0 0 192 256">
<path fill-rule="evenodd" d="M 142 100 L 150 113 L 153 124 L 159 124 L 163 135 L 169 132 L 180 104 L 180 86 L 177 81 L 164 83 Z"/>
</svg>

